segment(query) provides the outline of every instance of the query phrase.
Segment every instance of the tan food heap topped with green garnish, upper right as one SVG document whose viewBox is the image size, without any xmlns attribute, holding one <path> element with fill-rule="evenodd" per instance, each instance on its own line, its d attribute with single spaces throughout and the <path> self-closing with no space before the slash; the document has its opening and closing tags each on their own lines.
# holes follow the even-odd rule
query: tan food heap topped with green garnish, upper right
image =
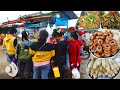
<svg viewBox="0 0 120 90">
<path fill-rule="evenodd" d="M 96 30 L 100 28 L 100 24 L 100 11 L 82 11 L 75 27 L 82 30 Z"/>
</svg>

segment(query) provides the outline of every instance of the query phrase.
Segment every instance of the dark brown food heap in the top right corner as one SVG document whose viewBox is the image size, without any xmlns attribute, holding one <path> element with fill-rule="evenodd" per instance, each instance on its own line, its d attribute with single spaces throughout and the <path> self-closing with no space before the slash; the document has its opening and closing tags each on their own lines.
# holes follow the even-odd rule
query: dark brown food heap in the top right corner
<svg viewBox="0 0 120 90">
<path fill-rule="evenodd" d="M 103 11 L 101 13 L 103 29 L 120 29 L 120 13 L 118 11 Z"/>
</svg>

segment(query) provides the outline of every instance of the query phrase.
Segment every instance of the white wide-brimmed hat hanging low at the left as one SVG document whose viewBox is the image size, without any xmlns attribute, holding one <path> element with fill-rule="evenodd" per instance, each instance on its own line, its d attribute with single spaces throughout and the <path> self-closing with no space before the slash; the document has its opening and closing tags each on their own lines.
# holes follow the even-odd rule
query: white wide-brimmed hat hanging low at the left
<svg viewBox="0 0 120 90">
<path fill-rule="evenodd" d="M 17 73 L 18 73 L 18 68 L 17 68 L 17 66 L 15 65 L 14 62 L 11 62 L 11 64 L 5 68 L 5 72 L 9 76 L 15 77 L 17 75 Z"/>
</svg>

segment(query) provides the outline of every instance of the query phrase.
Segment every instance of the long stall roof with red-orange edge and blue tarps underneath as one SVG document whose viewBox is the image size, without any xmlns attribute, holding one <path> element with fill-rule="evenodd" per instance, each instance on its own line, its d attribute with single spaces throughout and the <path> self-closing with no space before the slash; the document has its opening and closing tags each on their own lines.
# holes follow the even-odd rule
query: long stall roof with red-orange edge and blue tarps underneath
<svg viewBox="0 0 120 90">
<path fill-rule="evenodd" d="M 59 15 L 60 17 L 58 17 L 57 15 Z M 37 14 L 37 16 L 35 16 L 35 15 L 27 16 L 26 15 L 26 17 L 19 18 L 18 20 L 13 20 L 13 21 L 2 23 L 1 26 L 5 26 L 8 24 L 15 24 L 15 23 L 27 23 L 27 26 L 30 26 L 28 28 L 31 28 L 31 26 L 40 28 L 40 27 L 42 27 L 42 25 L 43 25 L 43 27 L 46 27 L 48 23 L 51 26 L 55 23 L 57 26 L 67 26 L 68 20 L 76 19 L 76 18 L 78 18 L 78 17 L 73 11 L 53 11 L 53 12 L 47 13 L 47 14 L 41 14 L 41 15 Z M 35 25 L 33 25 L 33 24 L 35 24 Z"/>
</svg>

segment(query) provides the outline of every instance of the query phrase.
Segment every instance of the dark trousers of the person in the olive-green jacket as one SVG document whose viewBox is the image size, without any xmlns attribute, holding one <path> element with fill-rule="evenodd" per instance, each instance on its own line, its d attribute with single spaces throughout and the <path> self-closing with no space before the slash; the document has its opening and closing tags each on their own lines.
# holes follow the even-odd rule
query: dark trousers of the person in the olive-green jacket
<svg viewBox="0 0 120 90">
<path fill-rule="evenodd" d="M 33 70 L 33 62 L 23 62 L 18 60 L 18 68 L 19 68 L 19 77 L 20 79 L 24 79 L 26 76 L 26 79 L 31 79 L 32 77 L 32 70 Z"/>
</svg>

